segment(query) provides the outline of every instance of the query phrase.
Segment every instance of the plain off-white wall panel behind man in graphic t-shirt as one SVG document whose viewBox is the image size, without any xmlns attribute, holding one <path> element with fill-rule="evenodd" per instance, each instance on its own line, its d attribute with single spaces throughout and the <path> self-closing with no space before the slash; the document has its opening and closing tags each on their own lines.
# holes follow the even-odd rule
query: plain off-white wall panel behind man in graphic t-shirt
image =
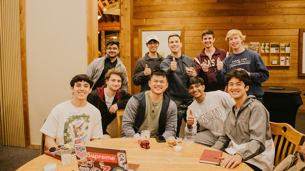
<svg viewBox="0 0 305 171">
<path fill-rule="evenodd" d="M 72 97 L 70 80 L 87 68 L 86 1 L 27 0 L 26 50 L 31 144 L 44 120 Z"/>
</svg>

